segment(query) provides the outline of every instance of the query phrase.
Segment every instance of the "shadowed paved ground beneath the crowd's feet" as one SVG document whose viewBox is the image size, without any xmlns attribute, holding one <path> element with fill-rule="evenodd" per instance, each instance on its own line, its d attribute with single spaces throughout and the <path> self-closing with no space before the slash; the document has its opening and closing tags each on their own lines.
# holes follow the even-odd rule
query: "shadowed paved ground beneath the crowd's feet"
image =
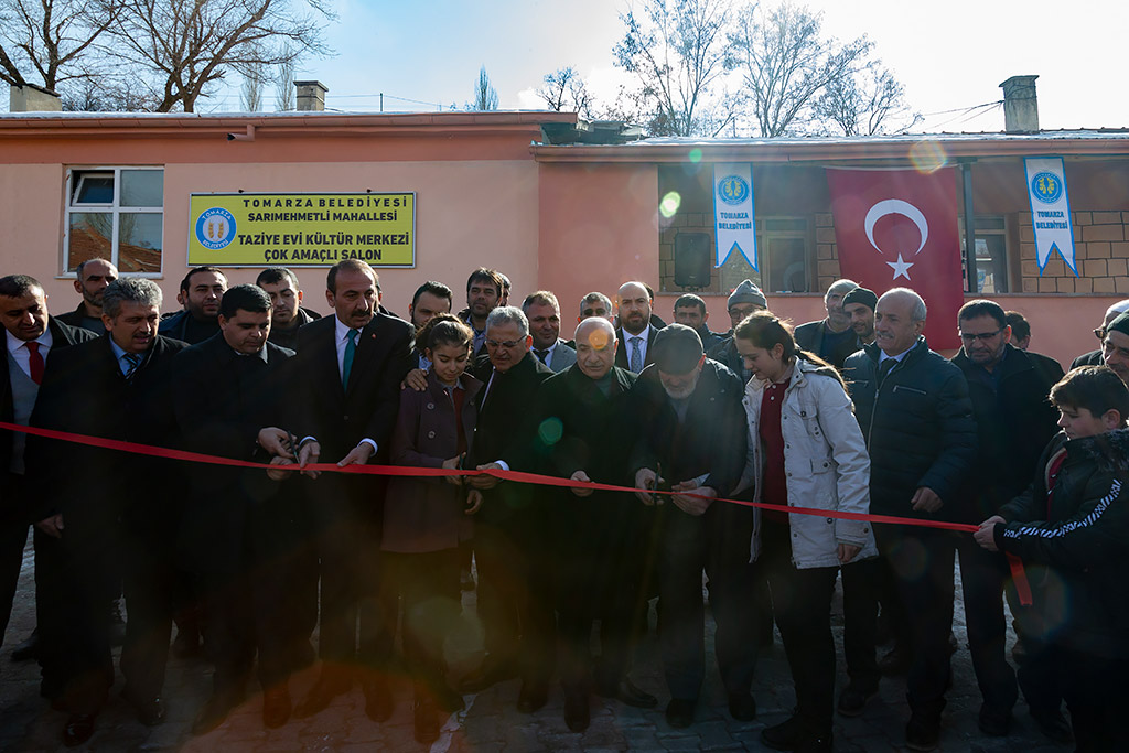
<svg viewBox="0 0 1129 753">
<path fill-rule="evenodd" d="M 34 623 L 30 550 L 25 557 L 21 590 L 9 627 L 9 646 L 0 658 L 0 751 L 65 750 L 60 744 L 64 715 L 52 711 L 38 692 L 38 669 L 34 663 L 12 664 L 8 659 L 10 645 L 21 640 Z M 837 614 L 841 613 L 837 604 Z M 1006 738 L 986 738 L 977 729 L 980 697 L 964 646 L 964 614 L 956 611 L 955 633 L 961 650 L 954 657 L 954 685 L 948 695 L 944 717 L 942 751 L 983 751 L 986 753 L 1023 751 L 1042 753 L 1068 750 L 1042 737 L 1026 715 L 1017 707 L 1013 734 Z M 707 634 L 712 632 L 709 627 Z M 841 643 L 841 628 L 837 640 Z M 841 648 L 841 645 L 840 645 Z M 474 618 L 474 595 L 464 599 L 464 620 L 448 645 L 452 668 L 464 673 L 481 658 L 481 632 Z M 841 650 L 840 650 L 841 656 Z M 712 645 L 707 647 L 707 662 L 714 662 Z M 671 729 L 662 708 L 667 697 L 659 673 L 654 634 L 640 646 L 636 682 L 660 699 L 659 709 L 641 711 L 614 701 L 597 700 L 593 706 L 592 727 L 584 734 L 568 732 L 562 719 L 559 686 L 552 689 L 549 706 L 540 712 L 518 713 L 514 704 L 517 681 L 508 682 L 475 697 L 466 697 L 466 711 L 453 716 L 444 726 L 440 739 L 431 746 L 436 753 L 485 751 L 765 751 L 760 730 L 787 718 L 795 702 L 790 675 L 779 639 L 758 666 L 753 692 L 760 709 L 756 721 L 735 723 L 727 713 L 726 699 L 718 684 L 715 665 L 707 673 L 706 688 L 699 706 L 698 723 L 690 729 Z M 840 681 L 846 674 L 840 666 Z M 291 693 L 300 698 L 313 683 L 307 672 L 291 682 Z M 121 677 L 114 686 L 121 690 Z M 172 659 L 166 695 L 168 719 L 148 728 L 137 723 L 130 708 L 116 694 L 98 719 L 98 730 L 87 744 L 91 751 L 417 751 L 412 739 L 411 689 L 402 677 L 395 683 L 395 716 L 377 725 L 365 716 L 364 697 L 359 689 L 314 719 L 291 721 L 275 730 L 265 730 L 261 723 L 261 699 L 251 700 L 222 727 L 204 737 L 189 732 L 196 709 L 208 695 L 210 676 L 200 660 Z M 893 751 L 903 747 L 908 710 L 904 685 L 899 678 L 883 680 L 879 698 L 870 701 L 866 713 L 855 719 L 835 719 L 837 751 Z"/>
</svg>

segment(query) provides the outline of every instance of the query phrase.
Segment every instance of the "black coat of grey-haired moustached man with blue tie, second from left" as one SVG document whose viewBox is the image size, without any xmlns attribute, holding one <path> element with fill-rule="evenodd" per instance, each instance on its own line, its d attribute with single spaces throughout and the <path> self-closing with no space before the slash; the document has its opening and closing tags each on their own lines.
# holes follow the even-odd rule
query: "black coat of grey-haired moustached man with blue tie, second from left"
<svg viewBox="0 0 1129 753">
<path fill-rule="evenodd" d="M 173 360 L 187 345 L 158 335 L 126 380 L 110 343 L 107 333 L 51 354 L 32 424 L 177 447 Z M 27 447 L 28 473 L 43 481 L 37 520 L 62 513 L 69 535 L 96 537 L 113 529 L 129 510 L 148 520 L 146 525 L 175 519 L 181 490 L 169 479 L 181 467 L 176 462 L 33 439 Z M 60 458 L 65 458 L 65 473 L 59 472 Z"/>
</svg>

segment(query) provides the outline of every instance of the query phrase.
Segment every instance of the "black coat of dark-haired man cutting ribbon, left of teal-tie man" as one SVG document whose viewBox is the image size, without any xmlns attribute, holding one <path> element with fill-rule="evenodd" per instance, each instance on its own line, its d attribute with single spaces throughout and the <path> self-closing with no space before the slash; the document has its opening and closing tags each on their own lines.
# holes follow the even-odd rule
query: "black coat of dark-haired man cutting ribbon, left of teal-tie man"
<svg viewBox="0 0 1129 753">
<path fill-rule="evenodd" d="M 265 356 L 265 361 L 239 356 L 222 334 L 177 354 L 174 410 L 185 449 L 270 461 L 256 438 L 260 429 L 274 424 L 274 406 L 292 388 L 287 366 L 294 351 L 268 342 Z M 261 470 L 201 464 L 190 469 L 187 485 L 192 504 L 181 518 L 181 559 L 193 572 L 237 571 L 247 557 L 247 539 L 261 533 L 248 529 L 252 508 L 269 504 L 278 484 Z M 283 523 L 278 516 L 262 517 Z"/>
</svg>

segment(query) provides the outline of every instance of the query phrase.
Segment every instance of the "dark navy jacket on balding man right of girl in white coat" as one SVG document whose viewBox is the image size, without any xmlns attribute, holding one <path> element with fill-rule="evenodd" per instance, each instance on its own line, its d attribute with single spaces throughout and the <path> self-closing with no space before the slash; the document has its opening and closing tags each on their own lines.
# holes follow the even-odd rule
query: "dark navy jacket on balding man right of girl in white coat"
<svg viewBox="0 0 1129 753">
<path fill-rule="evenodd" d="M 878 347 L 847 359 L 843 376 L 870 452 L 870 511 L 875 515 L 953 520 L 956 494 L 972 470 L 977 426 L 964 375 L 925 338 L 877 383 Z M 928 487 L 944 506 L 913 511 L 910 500 Z"/>
</svg>

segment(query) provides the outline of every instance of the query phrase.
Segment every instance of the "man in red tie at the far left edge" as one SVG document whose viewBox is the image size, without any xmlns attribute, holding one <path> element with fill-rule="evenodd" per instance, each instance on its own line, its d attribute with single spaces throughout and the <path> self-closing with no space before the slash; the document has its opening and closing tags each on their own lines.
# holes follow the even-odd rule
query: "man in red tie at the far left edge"
<svg viewBox="0 0 1129 753">
<path fill-rule="evenodd" d="M 0 364 L 0 421 L 27 426 L 38 396 L 46 361 L 79 342 L 94 340 L 82 329 L 68 326 L 47 314 L 43 287 L 26 274 L 0 278 L 0 323 L 7 348 Z M 19 570 L 24 563 L 27 529 L 36 480 L 28 479 L 24 463 L 27 435 L 0 430 L 0 641 L 11 618 Z M 37 532 L 38 562 L 50 543 Z M 37 566 L 38 567 L 38 566 Z"/>
</svg>

